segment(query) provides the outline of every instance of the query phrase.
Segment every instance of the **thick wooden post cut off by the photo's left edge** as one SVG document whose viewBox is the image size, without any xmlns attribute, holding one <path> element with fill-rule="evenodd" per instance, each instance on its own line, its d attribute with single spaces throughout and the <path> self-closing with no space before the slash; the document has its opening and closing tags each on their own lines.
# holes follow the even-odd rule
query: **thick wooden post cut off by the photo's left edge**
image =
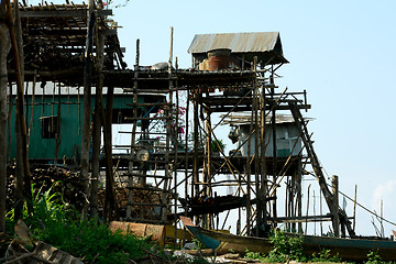
<svg viewBox="0 0 396 264">
<path fill-rule="evenodd" d="M 3 22 L 2 22 L 3 21 Z M 7 55 L 10 40 L 6 25 L 6 1 L 0 2 L 0 233 L 6 232 L 7 198 Z"/>
</svg>

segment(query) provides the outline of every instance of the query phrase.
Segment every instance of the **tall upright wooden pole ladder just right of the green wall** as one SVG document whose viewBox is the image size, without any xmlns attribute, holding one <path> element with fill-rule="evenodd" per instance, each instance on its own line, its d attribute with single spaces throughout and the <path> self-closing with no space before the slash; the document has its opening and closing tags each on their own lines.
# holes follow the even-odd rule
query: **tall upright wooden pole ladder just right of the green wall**
<svg viewBox="0 0 396 264">
<path fill-rule="evenodd" d="M 138 78 L 139 70 L 135 70 L 133 114 L 129 118 L 132 121 L 132 138 L 125 220 L 165 224 L 170 211 L 170 179 L 176 169 L 174 156 L 178 128 L 174 119 L 174 89 L 172 78 L 169 88 L 139 89 Z M 158 95 L 166 100 L 157 103 L 138 100 Z"/>
</svg>

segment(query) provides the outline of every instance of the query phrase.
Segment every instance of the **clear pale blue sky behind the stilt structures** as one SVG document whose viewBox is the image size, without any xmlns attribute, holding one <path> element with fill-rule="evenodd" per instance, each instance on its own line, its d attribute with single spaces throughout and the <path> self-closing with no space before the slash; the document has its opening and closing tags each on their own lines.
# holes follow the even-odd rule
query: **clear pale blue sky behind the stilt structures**
<svg viewBox="0 0 396 264">
<path fill-rule="evenodd" d="M 123 3 L 116 0 L 113 4 Z M 113 9 L 125 61 L 132 68 L 135 41 L 141 64 L 166 62 L 169 26 L 179 67 L 190 66 L 195 34 L 279 31 L 290 64 L 278 73 L 279 89 L 308 92 L 307 113 L 324 169 L 340 177 L 340 190 L 396 221 L 395 81 L 396 1 L 175 1 L 131 0 Z M 349 211 L 352 204 L 348 205 Z M 358 211 L 359 233 L 374 233 Z M 385 226 L 386 235 L 396 227 Z"/>
</svg>

